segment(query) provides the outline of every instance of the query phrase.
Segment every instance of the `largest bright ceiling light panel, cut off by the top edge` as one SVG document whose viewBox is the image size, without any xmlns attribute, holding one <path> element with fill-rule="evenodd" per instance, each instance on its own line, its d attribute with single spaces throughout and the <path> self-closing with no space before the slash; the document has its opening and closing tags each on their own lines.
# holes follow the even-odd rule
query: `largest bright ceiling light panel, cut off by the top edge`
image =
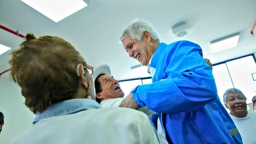
<svg viewBox="0 0 256 144">
<path fill-rule="evenodd" d="M 21 0 L 41 14 L 58 22 L 88 6 L 83 0 Z"/>
</svg>

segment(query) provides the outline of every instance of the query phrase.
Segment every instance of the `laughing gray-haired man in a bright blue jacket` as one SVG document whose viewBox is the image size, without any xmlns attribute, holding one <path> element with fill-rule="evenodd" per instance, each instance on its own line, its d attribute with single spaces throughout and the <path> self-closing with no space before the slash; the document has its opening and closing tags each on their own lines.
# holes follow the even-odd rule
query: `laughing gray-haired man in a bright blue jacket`
<svg viewBox="0 0 256 144">
<path fill-rule="evenodd" d="M 157 112 L 153 125 L 157 128 L 158 119 L 168 143 L 242 143 L 198 44 L 160 43 L 152 25 L 140 20 L 123 31 L 120 41 L 130 57 L 148 67 L 152 84 L 135 87 L 119 107 Z"/>
</svg>

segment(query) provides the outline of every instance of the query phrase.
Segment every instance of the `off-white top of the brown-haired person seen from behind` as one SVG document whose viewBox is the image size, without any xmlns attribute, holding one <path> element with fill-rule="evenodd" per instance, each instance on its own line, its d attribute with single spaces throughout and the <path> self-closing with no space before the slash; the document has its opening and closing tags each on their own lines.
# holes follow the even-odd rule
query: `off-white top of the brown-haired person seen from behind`
<svg viewBox="0 0 256 144">
<path fill-rule="evenodd" d="M 70 109 L 68 104 L 65 106 L 66 110 Z M 91 108 L 45 119 L 42 119 L 42 116 L 35 119 L 33 126 L 9 143 L 159 143 L 148 116 L 128 108 Z"/>
</svg>

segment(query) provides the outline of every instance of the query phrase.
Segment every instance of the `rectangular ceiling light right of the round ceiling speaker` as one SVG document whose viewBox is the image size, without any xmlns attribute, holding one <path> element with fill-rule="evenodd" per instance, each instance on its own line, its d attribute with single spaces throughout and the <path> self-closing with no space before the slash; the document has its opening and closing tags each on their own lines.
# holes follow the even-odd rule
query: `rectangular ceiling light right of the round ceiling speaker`
<svg viewBox="0 0 256 144">
<path fill-rule="evenodd" d="M 219 51 L 236 47 L 239 39 L 239 33 L 221 38 L 219 40 L 211 42 L 211 53 L 217 53 Z"/>
</svg>

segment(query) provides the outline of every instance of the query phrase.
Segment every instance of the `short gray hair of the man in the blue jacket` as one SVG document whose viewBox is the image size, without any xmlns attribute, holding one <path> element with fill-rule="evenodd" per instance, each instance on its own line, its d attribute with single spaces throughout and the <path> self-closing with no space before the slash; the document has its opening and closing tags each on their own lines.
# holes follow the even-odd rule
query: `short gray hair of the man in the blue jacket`
<svg viewBox="0 0 256 144">
<path fill-rule="evenodd" d="M 147 21 L 135 19 L 133 22 L 123 31 L 120 36 L 120 42 L 126 37 L 130 36 L 131 39 L 142 42 L 142 36 L 145 31 L 150 33 L 150 36 L 156 43 L 160 43 L 160 38 L 154 27 Z"/>
</svg>

